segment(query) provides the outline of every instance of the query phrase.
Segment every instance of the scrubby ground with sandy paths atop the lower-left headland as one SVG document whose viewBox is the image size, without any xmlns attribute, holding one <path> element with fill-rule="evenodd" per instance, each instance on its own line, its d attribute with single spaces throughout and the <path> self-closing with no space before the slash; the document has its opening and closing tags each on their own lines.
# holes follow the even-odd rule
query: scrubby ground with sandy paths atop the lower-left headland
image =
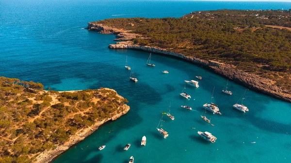
<svg viewBox="0 0 291 163">
<path fill-rule="evenodd" d="M 42 89 L 41 83 L 0 77 L 0 163 L 31 163 L 40 152 L 111 118 L 128 103 L 110 89 Z"/>
</svg>

